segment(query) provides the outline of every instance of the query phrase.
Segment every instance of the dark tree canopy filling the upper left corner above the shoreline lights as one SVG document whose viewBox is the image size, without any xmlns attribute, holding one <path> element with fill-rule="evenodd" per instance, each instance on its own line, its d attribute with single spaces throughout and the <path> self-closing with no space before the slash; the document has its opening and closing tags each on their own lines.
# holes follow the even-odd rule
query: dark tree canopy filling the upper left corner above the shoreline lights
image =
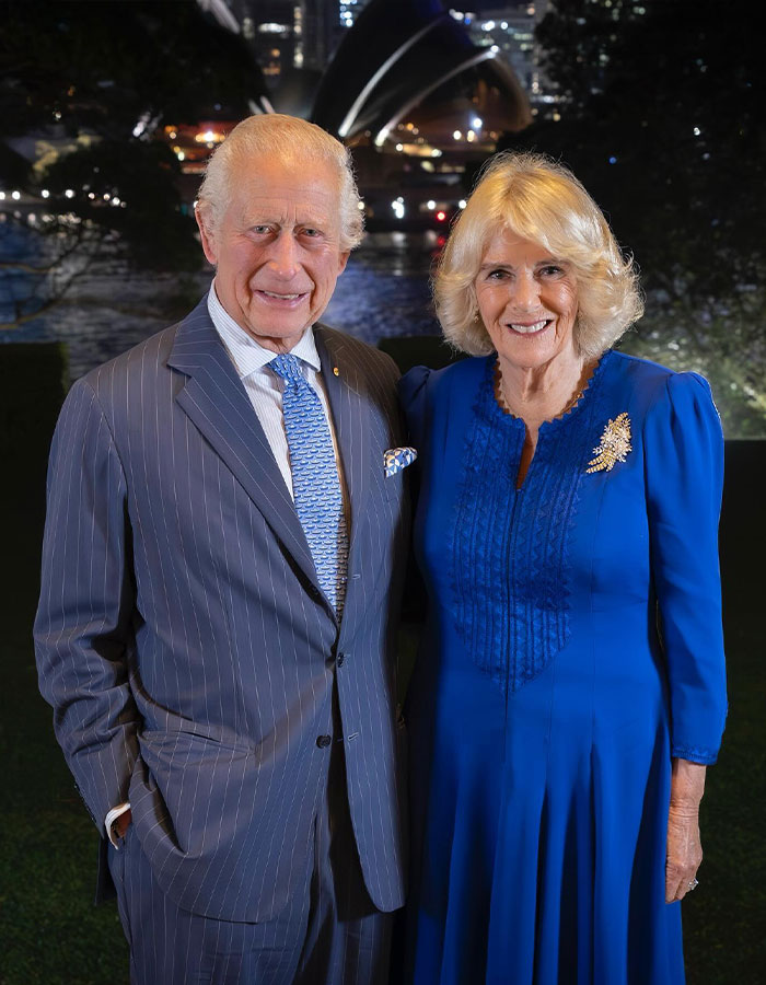
<svg viewBox="0 0 766 985">
<path fill-rule="evenodd" d="M 248 113 L 263 80 L 240 37 L 196 0 L 16 0 L 0 7 L 7 135 L 60 124 L 127 139 L 140 120 Z"/>
</svg>

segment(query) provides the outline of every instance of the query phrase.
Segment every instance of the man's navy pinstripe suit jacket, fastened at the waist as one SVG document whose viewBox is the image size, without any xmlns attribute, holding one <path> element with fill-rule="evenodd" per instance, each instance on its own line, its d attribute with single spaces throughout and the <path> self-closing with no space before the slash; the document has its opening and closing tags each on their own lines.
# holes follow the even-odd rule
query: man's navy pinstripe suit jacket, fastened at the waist
<svg viewBox="0 0 766 985">
<path fill-rule="evenodd" d="M 364 881 L 403 903 L 398 373 L 315 336 L 351 505 L 340 626 L 206 300 L 78 381 L 51 449 L 35 639 L 57 737 L 102 834 L 129 800 L 162 889 L 222 919 L 269 919 L 310 865 L 334 680 Z"/>
</svg>

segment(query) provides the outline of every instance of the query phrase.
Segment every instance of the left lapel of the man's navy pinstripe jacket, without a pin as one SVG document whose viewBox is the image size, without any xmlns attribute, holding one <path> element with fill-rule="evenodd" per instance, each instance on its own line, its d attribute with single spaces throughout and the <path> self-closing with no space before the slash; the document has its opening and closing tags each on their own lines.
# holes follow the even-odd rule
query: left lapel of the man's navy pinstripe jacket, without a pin
<svg viewBox="0 0 766 985">
<path fill-rule="evenodd" d="M 318 587 L 293 501 L 210 320 L 207 298 L 178 326 L 167 364 L 187 376 L 176 395 L 178 406 L 225 462 L 306 578 Z"/>
</svg>

